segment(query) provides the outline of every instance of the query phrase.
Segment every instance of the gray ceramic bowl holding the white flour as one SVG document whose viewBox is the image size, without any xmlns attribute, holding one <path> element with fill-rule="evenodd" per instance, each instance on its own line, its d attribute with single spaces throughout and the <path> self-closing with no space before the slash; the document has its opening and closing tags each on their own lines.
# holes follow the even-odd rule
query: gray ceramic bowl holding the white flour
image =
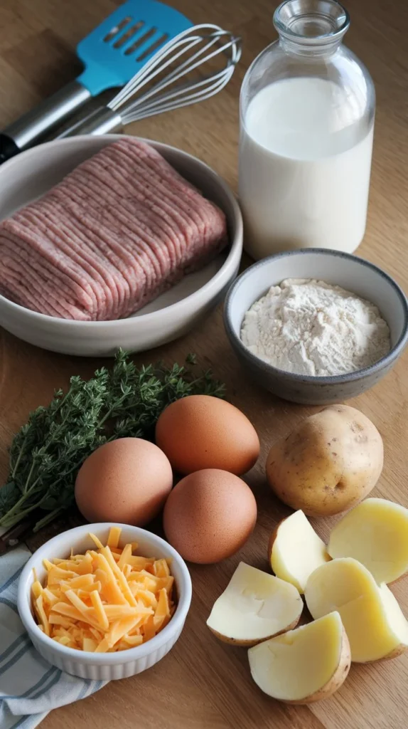
<svg viewBox="0 0 408 729">
<path fill-rule="evenodd" d="M 335 377 L 295 375 L 259 359 L 241 342 L 242 320 L 249 307 L 284 278 L 318 278 L 372 301 L 390 327 L 391 351 L 371 367 Z M 264 258 L 247 268 L 228 291 L 224 324 L 236 356 L 255 381 L 284 399 L 327 405 L 356 397 L 391 370 L 408 341 L 408 301 L 393 278 L 368 261 L 338 251 L 303 249 Z"/>
</svg>

